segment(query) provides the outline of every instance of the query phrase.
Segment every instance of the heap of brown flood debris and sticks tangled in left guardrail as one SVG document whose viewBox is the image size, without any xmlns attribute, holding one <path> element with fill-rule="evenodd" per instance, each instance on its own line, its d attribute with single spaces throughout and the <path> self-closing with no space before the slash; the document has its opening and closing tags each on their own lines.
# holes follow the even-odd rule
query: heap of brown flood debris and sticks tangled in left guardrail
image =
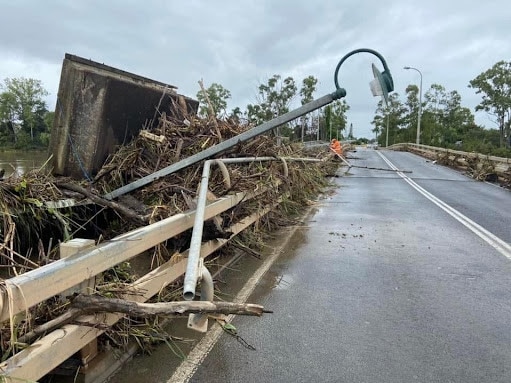
<svg viewBox="0 0 511 383">
<path fill-rule="evenodd" d="M 149 124 L 148 124 L 149 125 Z M 153 174 L 183 158 L 189 157 L 222 140 L 234 137 L 250 126 L 235 120 L 200 119 L 188 116 L 177 119 L 171 113 L 161 113 L 158 123 L 151 129 L 143 129 L 129 144 L 121 146 L 106 161 L 92 181 L 73 181 L 53 177 L 47 171 L 32 171 L 23 176 L 12 176 L 0 182 L 0 263 L 4 278 L 58 259 L 58 244 L 71 238 L 93 238 L 103 241 L 116 235 L 157 222 L 175 214 L 194 209 L 201 179 L 202 164 L 198 163 L 176 173 L 157 179 L 116 201 L 105 199 L 106 193 L 127 185 L 144 176 Z M 303 151 L 303 145 L 279 144 L 272 135 L 260 135 L 250 141 L 239 143 L 218 157 L 311 157 Z M 327 148 L 312 155 L 315 158 L 331 158 Z M 244 202 L 221 217 L 221 225 L 206 225 L 204 237 L 218 238 L 222 230 L 233 222 L 287 193 L 287 198 L 277 210 L 263 218 L 264 223 L 256 229 L 242 233 L 240 241 L 247 249 L 262 243 L 261 236 L 281 225 L 288 225 L 310 200 L 328 185 L 326 175 L 335 173 L 339 163 L 288 162 L 288 175 L 284 176 L 281 161 L 250 162 L 228 166 L 231 186 L 227 189 L 219 169 L 212 168 L 209 190 L 212 196 L 221 197 L 239 191 L 267 191 Z M 264 230 L 263 230 L 264 229 Z M 190 233 L 183 233 L 160 245 L 154 251 L 158 261 L 154 267 L 167 261 L 172 254 L 189 246 Z M 233 251 L 226 246 L 222 251 Z M 110 296 L 122 293 L 122 286 L 134 280 L 135 272 L 129 264 L 123 264 L 104 273 L 102 284 L 96 289 Z M 178 286 L 172 285 L 158 299 L 172 300 Z M 113 293 L 112 293 L 113 291 Z M 17 324 L 15 331 L 9 324 L 0 329 L 4 358 L 14 349 L 11 337 L 23 337 L 33 327 L 45 323 L 66 309 L 58 299 L 31 309 L 31 315 Z M 140 331 L 133 325 L 133 318 L 120 323 L 115 344 L 124 342 L 126 327 Z M 147 325 L 147 319 L 143 321 Z M 149 324 L 154 333 L 156 322 Z M 147 327 L 147 326 L 146 326 Z M 115 332 L 115 331 L 114 331 Z M 135 331 L 128 331 L 133 335 Z M 15 334 L 15 335 L 13 335 Z M 119 338 L 120 337 L 120 338 Z M 143 336 L 145 339 L 145 335 Z M 153 338 L 149 337 L 152 341 Z"/>
</svg>

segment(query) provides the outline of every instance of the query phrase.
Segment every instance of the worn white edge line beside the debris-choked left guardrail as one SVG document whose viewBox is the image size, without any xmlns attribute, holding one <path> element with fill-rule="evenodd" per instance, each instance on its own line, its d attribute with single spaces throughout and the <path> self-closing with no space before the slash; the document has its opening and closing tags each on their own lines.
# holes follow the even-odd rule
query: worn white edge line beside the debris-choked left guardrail
<svg viewBox="0 0 511 383">
<path fill-rule="evenodd" d="M 238 295 L 236 295 L 236 298 L 234 299 L 235 303 L 245 303 L 247 301 L 259 283 L 259 280 L 268 271 L 275 260 L 280 256 L 282 250 L 287 247 L 289 240 L 294 233 L 295 230 L 291 230 L 284 238 L 284 241 L 281 243 L 280 247 L 275 249 L 273 253 L 257 269 L 254 275 L 247 281 L 245 286 L 243 286 Z M 234 317 L 235 315 L 228 315 L 226 322 L 230 323 Z M 197 368 L 199 368 L 209 352 L 213 349 L 213 346 L 216 344 L 223 331 L 224 330 L 218 324 L 215 324 L 210 330 L 208 330 L 206 335 L 204 335 L 200 342 L 197 343 L 193 350 L 188 354 L 186 359 L 179 365 L 176 371 L 174 371 L 172 377 L 167 381 L 167 383 L 187 383 L 193 374 L 195 374 L 195 371 Z"/>
</svg>

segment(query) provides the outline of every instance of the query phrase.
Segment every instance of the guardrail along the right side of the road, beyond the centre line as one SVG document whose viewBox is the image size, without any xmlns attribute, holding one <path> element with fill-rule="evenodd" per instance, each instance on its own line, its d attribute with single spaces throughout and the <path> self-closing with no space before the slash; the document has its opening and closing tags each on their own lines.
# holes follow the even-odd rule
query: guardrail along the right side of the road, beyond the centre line
<svg viewBox="0 0 511 383">
<path fill-rule="evenodd" d="M 501 181 L 511 182 L 511 158 L 412 143 L 394 144 L 389 146 L 388 149 L 407 150 L 434 159 L 443 156 L 449 163 L 462 169 L 474 166 L 477 170 L 481 170 L 483 166 L 486 166 L 486 174 L 493 172 Z"/>
</svg>

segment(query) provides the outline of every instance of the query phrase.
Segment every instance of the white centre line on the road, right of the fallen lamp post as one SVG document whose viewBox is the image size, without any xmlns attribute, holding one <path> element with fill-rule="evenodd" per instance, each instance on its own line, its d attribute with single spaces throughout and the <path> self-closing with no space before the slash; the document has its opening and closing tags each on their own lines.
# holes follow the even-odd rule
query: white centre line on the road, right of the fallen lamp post
<svg viewBox="0 0 511 383">
<path fill-rule="evenodd" d="M 385 157 L 381 152 L 377 152 L 380 157 L 387 163 L 387 165 L 390 166 L 391 169 L 398 170 L 396 166 L 390 160 Z M 490 246 L 492 246 L 495 250 L 497 250 L 499 253 L 504 255 L 505 257 L 511 259 L 511 245 L 509 245 L 504 240 L 497 237 L 495 234 L 489 232 L 484 227 L 480 226 L 479 224 L 472 221 L 467 216 L 461 214 L 458 210 L 454 209 L 452 206 L 449 206 L 444 201 L 440 200 L 439 198 L 435 197 L 433 194 L 419 186 L 415 181 L 410 179 L 406 174 L 397 171 L 397 174 L 401 178 L 403 178 L 411 187 L 413 187 L 415 190 L 417 190 L 419 193 L 421 193 L 424 197 L 429 199 L 431 202 L 433 202 L 435 205 L 440 207 L 442 210 L 444 210 L 447 214 L 449 214 L 451 217 L 456 219 L 458 222 L 462 223 L 465 227 L 470 229 L 474 234 L 479 236 L 481 239 L 483 239 L 486 243 L 488 243 Z"/>
</svg>

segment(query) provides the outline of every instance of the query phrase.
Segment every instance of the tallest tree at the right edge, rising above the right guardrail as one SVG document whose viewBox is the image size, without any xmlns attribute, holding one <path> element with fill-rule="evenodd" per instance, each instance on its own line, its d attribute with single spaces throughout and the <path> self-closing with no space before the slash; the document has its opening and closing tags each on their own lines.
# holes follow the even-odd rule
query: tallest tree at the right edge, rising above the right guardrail
<svg viewBox="0 0 511 383">
<path fill-rule="evenodd" d="M 511 144 L 511 62 L 499 61 L 493 67 L 470 81 L 469 88 L 481 94 L 483 100 L 476 106 L 497 119 L 500 132 L 500 146 Z"/>
</svg>

